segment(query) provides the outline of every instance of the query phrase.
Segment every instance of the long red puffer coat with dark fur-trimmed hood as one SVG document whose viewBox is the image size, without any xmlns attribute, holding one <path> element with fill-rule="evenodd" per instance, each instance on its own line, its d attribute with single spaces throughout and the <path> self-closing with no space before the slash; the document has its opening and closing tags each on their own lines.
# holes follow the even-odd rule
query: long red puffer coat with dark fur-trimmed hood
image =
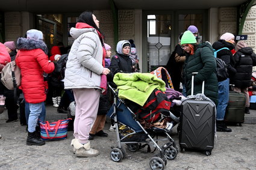
<svg viewBox="0 0 256 170">
<path fill-rule="evenodd" d="M 48 61 L 47 47 L 43 41 L 27 38 L 17 40 L 19 52 L 16 64 L 22 75 L 21 88 L 28 103 L 40 103 L 46 100 L 43 72 L 51 73 L 54 63 Z"/>
</svg>

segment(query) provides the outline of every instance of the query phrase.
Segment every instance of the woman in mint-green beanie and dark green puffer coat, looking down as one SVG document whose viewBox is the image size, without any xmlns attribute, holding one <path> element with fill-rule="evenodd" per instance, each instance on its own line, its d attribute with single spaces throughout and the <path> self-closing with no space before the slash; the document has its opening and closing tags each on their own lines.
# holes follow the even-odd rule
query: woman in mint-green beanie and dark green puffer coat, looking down
<svg viewBox="0 0 256 170">
<path fill-rule="evenodd" d="M 210 43 L 196 44 L 195 36 L 186 31 L 181 38 L 181 47 L 186 52 L 183 78 L 187 96 L 191 95 L 192 73 L 198 72 L 194 79 L 194 95 L 202 93 L 202 82 L 205 81 L 204 94 L 217 105 L 218 81 L 216 60 Z"/>
</svg>

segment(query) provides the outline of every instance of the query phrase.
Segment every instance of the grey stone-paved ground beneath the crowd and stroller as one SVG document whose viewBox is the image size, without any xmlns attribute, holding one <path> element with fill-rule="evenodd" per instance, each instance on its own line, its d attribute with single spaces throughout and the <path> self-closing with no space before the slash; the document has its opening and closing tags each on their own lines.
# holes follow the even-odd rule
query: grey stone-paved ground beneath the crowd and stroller
<svg viewBox="0 0 256 170">
<path fill-rule="evenodd" d="M 46 120 L 56 121 L 66 118 L 58 114 L 56 108 L 47 106 Z M 253 111 L 254 112 L 254 111 Z M 246 115 L 248 117 L 249 115 Z M 27 146 L 25 126 L 19 122 L 5 123 L 7 111 L 0 115 L 0 169 L 150 169 L 149 160 L 154 153 L 147 153 L 146 148 L 132 153 L 126 150 L 126 157 L 121 162 L 110 158 L 111 146 L 116 145 L 116 133 L 108 132 L 108 138 L 96 137 L 92 147 L 101 154 L 97 157 L 78 158 L 72 153 L 70 141 L 72 132 L 64 141 L 49 141 L 43 146 Z M 175 160 L 168 160 L 166 169 L 256 169 L 256 124 L 232 126 L 231 133 L 217 132 L 217 140 L 211 156 L 204 153 L 186 151 L 179 153 Z M 176 129 L 172 138 L 178 144 Z M 126 146 L 125 146 L 126 148 Z"/>
</svg>

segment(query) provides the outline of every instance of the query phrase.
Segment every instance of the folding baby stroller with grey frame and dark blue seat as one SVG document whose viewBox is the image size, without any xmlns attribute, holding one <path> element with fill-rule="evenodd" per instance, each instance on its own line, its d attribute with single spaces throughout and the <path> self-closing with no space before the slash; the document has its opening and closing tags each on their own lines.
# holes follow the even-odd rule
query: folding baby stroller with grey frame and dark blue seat
<svg viewBox="0 0 256 170">
<path fill-rule="evenodd" d="M 117 147 L 112 147 L 110 157 L 114 162 L 120 162 L 125 157 L 125 148 L 121 144 L 126 144 L 128 150 L 135 152 L 142 148 L 142 144 L 149 144 L 152 142 L 159 153 L 155 154 L 149 162 L 151 169 L 164 169 L 167 164 L 167 159 L 175 159 L 178 154 L 178 147 L 170 137 L 170 129 L 175 126 L 179 119 L 170 112 L 170 118 L 172 121 L 169 123 L 167 129 L 161 129 L 158 127 L 151 127 L 144 129 L 142 124 L 137 120 L 137 115 L 134 114 L 131 109 L 126 106 L 124 100 L 117 97 L 117 93 L 111 88 L 111 92 L 114 95 L 114 103 L 108 111 L 108 117 L 114 119 L 117 136 Z M 125 133 L 121 133 L 119 125 L 125 125 L 127 128 Z M 158 133 L 166 135 L 164 139 L 158 139 Z M 153 138 L 157 139 L 153 139 Z M 163 146 L 158 146 L 158 141 L 167 141 Z M 154 151 L 155 151 L 154 150 Z"/>
</svg>

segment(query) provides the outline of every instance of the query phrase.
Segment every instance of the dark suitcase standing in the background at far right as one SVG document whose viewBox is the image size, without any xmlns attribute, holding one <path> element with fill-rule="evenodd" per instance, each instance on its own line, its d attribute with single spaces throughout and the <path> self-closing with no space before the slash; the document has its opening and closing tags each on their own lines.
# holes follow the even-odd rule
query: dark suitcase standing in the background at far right
<svg viewBox="0 0 256 170">
<path fill-rule="evenodd" d="M 236 91 L 229 91 L 228 106 L 224 120 L 228 124 L 237 124 L 242 126 L 245 121 L 245 94 Z"/>
</svg>

